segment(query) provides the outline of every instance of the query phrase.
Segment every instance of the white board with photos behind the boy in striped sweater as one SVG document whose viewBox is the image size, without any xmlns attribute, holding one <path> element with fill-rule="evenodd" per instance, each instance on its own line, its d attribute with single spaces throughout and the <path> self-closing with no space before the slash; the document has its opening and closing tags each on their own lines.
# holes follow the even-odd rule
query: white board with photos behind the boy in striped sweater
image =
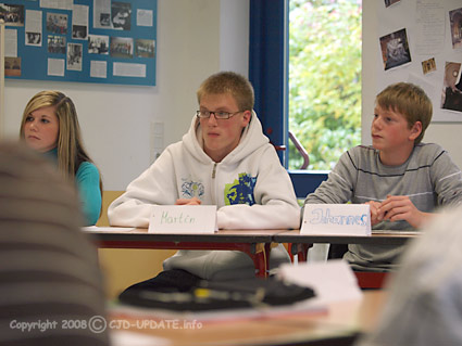
<svg viewBox="0 0 462 346">
<path fill-rule="evenodd" d="M 379 0 L 377 93 L 397 81 L 422 87 L 433 121 L 462 121 L 461 0 Z"/>
</svg>

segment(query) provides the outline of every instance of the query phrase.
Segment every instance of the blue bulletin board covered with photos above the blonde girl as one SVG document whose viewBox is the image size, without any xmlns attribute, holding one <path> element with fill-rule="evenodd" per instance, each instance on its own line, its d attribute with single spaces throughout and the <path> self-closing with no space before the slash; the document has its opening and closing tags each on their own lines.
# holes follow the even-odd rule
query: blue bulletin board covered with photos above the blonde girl
<svg viewBox="0 0 462 346">
<path fill-rule="evenodd" d="M 5 78 L 155 86 L 157 0 L 0 0 Z"/>
</svg>

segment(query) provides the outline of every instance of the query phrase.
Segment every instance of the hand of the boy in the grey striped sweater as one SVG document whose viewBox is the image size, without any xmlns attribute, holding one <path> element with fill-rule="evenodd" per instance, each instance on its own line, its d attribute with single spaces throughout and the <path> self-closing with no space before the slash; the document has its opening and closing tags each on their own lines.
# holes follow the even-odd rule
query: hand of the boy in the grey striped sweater
<svg viewBox="0 0 462 346">
<path fill-rule="evenodd" d="M 379 221 L 404 220 L 412 227 L 419 228 L 428 216 L 428 213 L 420 212 L 408 196 L 388 195 L 378 208 L 377 219 Z"/>
</svg>

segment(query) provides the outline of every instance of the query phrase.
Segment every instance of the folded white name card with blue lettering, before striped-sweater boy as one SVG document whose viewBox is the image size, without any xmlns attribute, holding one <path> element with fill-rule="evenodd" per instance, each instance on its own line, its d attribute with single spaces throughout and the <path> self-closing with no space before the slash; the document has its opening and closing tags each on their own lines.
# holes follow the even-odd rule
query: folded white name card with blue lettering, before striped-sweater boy
<svg viewBox="0 0 462 346">
<path fill-rule="evenodd" d="M 305 204 L 301 234 L 371 235 L 367 204 Z"/>
</svg>

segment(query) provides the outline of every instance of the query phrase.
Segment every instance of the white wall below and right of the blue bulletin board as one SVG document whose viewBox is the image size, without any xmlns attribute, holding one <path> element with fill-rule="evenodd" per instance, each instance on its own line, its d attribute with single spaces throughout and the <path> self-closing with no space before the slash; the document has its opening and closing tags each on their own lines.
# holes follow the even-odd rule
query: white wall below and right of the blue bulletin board
<svg viewBox="0 0 462 346">
<path fill-rule="evenodd" d="M 5 136 L 17 137 L 35 93 L 59 89 L 76 104 L 104 190 L 125 190 L 151 163 L 152 123 L 164 124 L 164 146 L 180 140 L 200 82 L 220 69 L 248 71 L 248 0 L 159 0 L 158 11 L 155 87 L 8 79 Z"/>
</svg>

